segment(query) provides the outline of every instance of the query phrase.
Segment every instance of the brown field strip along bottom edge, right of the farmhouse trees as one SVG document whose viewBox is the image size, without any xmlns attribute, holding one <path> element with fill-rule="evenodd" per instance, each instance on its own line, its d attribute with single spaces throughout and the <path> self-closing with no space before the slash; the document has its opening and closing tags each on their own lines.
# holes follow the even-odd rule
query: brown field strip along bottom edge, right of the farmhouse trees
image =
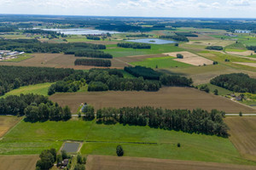
<svg viewBox="0 0 256 170">
<path fill-rule="evenodd" d="M 176 161 L 154 158 L 88 156 L 87 170 L 253 170 L 253 166 L 240 166 L 201 161 Z"/>
</svg>

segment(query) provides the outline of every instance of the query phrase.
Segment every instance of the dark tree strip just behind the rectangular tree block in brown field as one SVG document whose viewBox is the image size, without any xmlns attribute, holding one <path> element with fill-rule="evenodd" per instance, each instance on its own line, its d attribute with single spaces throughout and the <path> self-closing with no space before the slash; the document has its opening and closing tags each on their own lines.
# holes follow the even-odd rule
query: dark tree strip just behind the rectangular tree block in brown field
<svg viewBox="0 0 256 170">
<path fill-rule="evenodd" d="M 83 50 L 76 51 L 74 53 L 76 57 L 90 57 L 90 58 L 102 58 L 102 59 L 113 59 L 112 54 L 105 54 L 103 51 L 96 50 Z"/>
</svg>

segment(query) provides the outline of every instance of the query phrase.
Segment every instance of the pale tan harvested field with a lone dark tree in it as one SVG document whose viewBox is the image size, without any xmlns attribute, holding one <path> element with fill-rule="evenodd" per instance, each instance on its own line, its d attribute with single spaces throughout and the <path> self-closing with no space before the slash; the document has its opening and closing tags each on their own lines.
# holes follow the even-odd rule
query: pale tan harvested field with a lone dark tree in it
<svg viewBox="0 0 256 170">
<path fill-rule="evenodd" d="M 166 55 L 176 57 L 177 54 L 183 54 L 183 59 L 174 59 L 179 62 L 187 63 L 189 65 L 212 65 L 212 60 L 205 59 L 199 55 L 189 53 L 187 51 L 175 52 L 175 53 L 166 53 Z"/>
</svg>

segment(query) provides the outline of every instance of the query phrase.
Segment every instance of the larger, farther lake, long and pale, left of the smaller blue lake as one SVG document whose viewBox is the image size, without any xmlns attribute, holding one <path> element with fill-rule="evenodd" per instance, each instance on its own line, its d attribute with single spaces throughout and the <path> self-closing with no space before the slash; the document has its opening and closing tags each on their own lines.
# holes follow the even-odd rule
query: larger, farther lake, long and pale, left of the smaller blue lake
<svg viewBox="0 0 256 170">
<path fill-rule="evenodd" d="M 42 29 L 44 31 L 56 31 L 60 32 L 61 34 L 65 35 L 99 35 L 99 34 L 117 34 L 118 31 L 102 31 L 102 30 L 92 30 L 92 29 L 84 29 L 84 28 L 74 28 L 74 29 L 57 29 L 57 28 L 50 28 L 50 29 Z"/>
</svg>

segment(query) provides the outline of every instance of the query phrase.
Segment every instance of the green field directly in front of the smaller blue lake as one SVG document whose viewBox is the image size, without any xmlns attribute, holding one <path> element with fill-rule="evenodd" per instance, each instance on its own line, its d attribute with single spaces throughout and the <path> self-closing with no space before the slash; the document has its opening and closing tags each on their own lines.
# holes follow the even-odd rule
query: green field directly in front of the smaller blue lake
<svg viewBox="0 0 256 170">
<path fill-rule="evenodd" d="M 117 48 L 116 45 L 108 45 L 107 47 L 108 48 L 103 51 L 108 54 L 112 54 L 113 57 L 125 57 L 145 54 L 162 54 L 183 51 L 182 48 L 175 47 L 173 44 L 151 44 L 151 49 Z"/>
</svg>

